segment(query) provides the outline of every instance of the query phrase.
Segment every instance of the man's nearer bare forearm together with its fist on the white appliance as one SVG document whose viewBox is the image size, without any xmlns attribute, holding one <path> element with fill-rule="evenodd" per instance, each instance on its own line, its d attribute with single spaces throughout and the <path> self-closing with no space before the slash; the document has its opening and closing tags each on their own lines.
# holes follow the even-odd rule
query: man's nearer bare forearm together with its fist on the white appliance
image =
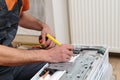
<svg viewBox="0 0 120 80">
<path fill-rule="evenodd" d="M 0 65 L 17 66 L 40 62 L 66 62 L 73 55 L 73 46 L 62 44 L 48 50 L 22 50 L 0 45 Z"/>
</svg>

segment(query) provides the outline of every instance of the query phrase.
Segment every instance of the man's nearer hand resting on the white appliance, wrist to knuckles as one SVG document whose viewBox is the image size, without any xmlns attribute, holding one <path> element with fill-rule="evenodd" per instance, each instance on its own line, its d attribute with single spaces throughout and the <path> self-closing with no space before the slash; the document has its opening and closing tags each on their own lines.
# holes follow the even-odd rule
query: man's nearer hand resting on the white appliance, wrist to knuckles
<svg viewBox="0 0 120 80">
<path fill-rule="evenodd" d="M 62 44 L 47 50 L 48 62 L 67 62 L 73 56 L 73 46 Z"/>
</svg>

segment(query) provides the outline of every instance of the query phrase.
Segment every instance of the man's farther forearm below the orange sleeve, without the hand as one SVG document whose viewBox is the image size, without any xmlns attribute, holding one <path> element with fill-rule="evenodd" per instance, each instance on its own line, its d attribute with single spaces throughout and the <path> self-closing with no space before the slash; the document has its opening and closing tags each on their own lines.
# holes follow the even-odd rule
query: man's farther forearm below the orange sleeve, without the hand
<svg viewBox="0 0 120 80">
<path fill-rule="evenodd" d="M 23 12 L 20 17 L 19 25 L 27 29 L 41 31 L 43 29 L 43 26 L 46 24 L 29 15 L 28 13 Z"/>
</svg>

